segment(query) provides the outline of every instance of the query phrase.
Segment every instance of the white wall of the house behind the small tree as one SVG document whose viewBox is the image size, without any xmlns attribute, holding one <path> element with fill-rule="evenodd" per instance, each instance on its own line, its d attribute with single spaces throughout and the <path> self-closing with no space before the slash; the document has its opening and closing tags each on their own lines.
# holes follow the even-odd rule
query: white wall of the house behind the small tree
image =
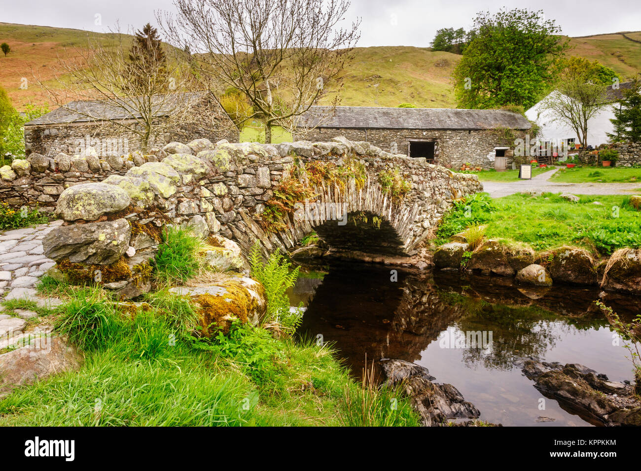
<svg viewBox="0 0 641 471">
<path fill-rule="evenodd" d="M 579 136 L 576 135 L 574 129 L 569 124 L 558 119 L 553 112 L 544 110 L 542 102 L 543 100 L 525 113 L 529 120 L 536 122 L 540 126 L 541 131 L 538 138 L 551 140 L 574 138 L 575 142 L 579 142 Z M 588 121 L 588 145 L 595 147 L 599 144 L 610 142 L 607 133 L 612 133 L 613 130 L 610 119 L 614 117 L 612 110 L 615 106 L 618 107 L 619 104 L 613 103 L 612 106 L 604 108 Z"/>
</svg>

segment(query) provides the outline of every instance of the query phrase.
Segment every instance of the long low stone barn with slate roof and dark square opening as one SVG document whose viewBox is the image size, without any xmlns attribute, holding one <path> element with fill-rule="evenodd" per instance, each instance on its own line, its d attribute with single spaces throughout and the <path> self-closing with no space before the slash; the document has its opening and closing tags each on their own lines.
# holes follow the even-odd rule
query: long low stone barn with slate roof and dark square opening
<svg viewBox="0 0 641 471">
<path fill-rule="evenodd" d="M 345 136 L 446 167 L 469 163 L 489 169 L 497 156 L 511 163 L 514 140 L 530 128 L 523 115 L 505 110 L 312 106 L 299 119 L 295 140 Z"/>
</svg>

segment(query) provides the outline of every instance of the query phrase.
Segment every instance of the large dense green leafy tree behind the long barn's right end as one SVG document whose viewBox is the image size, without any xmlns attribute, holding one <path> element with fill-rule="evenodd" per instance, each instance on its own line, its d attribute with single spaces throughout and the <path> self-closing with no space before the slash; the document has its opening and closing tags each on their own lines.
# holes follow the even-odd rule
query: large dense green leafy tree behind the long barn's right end
<svg viewBox="0 0 641 471">
<path fill-rule="evenodd" d="M 460 108 L 528 109 L 554 78 L 554 64 L 568 47 L 561 28 L 542 10 L 515 8 L 494 15 L 479 12 L 474 32 L 454 69 L 454 93 Z"/>
</svg>

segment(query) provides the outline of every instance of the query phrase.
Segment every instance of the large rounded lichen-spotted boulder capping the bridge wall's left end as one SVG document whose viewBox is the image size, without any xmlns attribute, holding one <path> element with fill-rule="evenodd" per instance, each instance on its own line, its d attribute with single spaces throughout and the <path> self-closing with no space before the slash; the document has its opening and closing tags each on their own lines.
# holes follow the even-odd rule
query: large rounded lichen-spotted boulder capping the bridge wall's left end
<svg viewBox="0 0 641 471">
<path fill-rule="evenodd" d="M 58 197 L 56 215 L 66 221 L 96 220 L 102 215 L 124 210 L 131 198 L 125 190 L 106 183 L 83 183 L 67 188 Z"/>
</svg>

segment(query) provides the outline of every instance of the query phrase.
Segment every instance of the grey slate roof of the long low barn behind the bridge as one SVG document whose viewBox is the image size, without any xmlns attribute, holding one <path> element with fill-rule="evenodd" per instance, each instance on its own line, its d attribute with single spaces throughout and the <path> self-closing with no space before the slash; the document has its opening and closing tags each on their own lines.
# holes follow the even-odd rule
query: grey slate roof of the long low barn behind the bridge
<svg viewBox="0 0 641 471">
<path fill-rule="evenodd" d="M 453 108 L 376 108 L 337 106 L 331 116 L 325 106 L 312 106 L 301 124 L 318 128 L 353 129 L 529 129 L 519 113 L 504 110 L 458 110 Z M 319 122 L 320 120 L 320 122 Z"/>
</svg>

